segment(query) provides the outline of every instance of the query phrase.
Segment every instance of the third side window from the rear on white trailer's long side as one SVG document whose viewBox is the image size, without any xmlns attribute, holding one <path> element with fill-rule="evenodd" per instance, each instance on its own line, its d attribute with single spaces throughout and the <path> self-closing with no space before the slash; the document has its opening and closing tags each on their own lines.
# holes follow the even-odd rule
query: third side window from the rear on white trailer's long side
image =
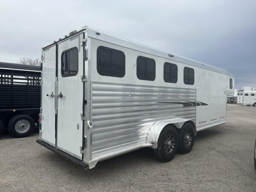
<svg viewBox="0 0 256 192">
<path fill-rule="evenodd" d="M 169 83 L 177 83 L 178 67 L 175 64 L 165 62 L 163 65 L 163 80 Z"/>
</svg>

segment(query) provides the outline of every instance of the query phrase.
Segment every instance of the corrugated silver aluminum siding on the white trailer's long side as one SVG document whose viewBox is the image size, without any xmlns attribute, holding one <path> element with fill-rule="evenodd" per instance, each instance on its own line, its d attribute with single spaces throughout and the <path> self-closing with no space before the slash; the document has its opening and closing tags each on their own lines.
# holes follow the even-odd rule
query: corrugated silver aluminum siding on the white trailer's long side
<svg viewBox="0 0 256 192">
<path fill-rule="evenodd" d="M 162 119 L 196 120 L 195 89 L 92 82 L 93 156 L 146 142 L 151 125 Z M 168 102 L 168 103 L 165 103 Z"/>
</svg>

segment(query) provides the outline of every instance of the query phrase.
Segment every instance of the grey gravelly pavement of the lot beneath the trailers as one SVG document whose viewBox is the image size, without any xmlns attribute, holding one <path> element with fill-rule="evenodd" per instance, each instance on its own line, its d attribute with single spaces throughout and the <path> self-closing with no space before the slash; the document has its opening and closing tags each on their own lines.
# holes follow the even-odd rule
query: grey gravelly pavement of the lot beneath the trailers
<svg viewBox="0 0 256 192">
<path fill-rule="evenodd" d="M 198 133 L 189 154 L 158 162 L 144 148 L 84 170 L 30 137 L 0 137 L 0 191 L 256 191 L 256 107 L 228 104 L 228 122 Z"/>
</svg>

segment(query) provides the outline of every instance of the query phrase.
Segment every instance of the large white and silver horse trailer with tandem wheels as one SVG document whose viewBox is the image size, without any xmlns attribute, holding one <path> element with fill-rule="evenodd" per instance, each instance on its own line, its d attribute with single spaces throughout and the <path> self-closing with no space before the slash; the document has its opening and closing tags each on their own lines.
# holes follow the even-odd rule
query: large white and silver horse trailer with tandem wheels
<svg viewBox="0 0 256 192">
<path fill-rule="evenodd" d="M 226 122 L 233 75 L 90 27 L 42 48 L 38 143 L 73 163 L 143 147 L 158 160 Z"/>
</svg>

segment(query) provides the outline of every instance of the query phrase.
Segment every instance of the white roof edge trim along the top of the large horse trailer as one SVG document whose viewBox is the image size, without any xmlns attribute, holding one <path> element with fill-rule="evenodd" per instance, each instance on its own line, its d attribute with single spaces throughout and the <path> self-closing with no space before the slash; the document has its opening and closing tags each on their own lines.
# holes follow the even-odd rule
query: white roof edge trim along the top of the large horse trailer
<svg viewBox="0 0 256 192">
<path fill-rule="evenodd" d="M 192 59 L 189 59 L 189 58 L 181 57 L 179 55 L 174 55 L 174 54 L 171 54 L 171 53 L 168 53 L 168 52 L 164 52 L 164 51 L 161 51 L 159 49 L 155 49 L 153 47 L 149 47 L 149 46 L 146 46 L 146 45 L 143 45 L 143 44 L 140 44 L 140 43 L 137 43 L 137 42 L 134 42 L 134 41 L 131 41 L 131 40 L 113 35 L 113 34 L 110 34 L 108 32 L 103 32 L 101 30 L 94 29 L 94 28 L 89 27 L 89 26 L 84 26 L 83 28 L 81 28 L 79 30 L 74 30 L 73 32 L 70 32 L 69 35 L 65 35 L 63 38 L 59 38 L 58 41 L 54 41 L 52 44 L 49 44 L 46 47 L 42 47 L 42 49 L 46 49 L 46 48 L 48 48 L 48 47 L 50 47 L 54 44 L 57 44 L 61 41 L 64 41 L 65 39 L 70 38 L 71 36 L 77 35 L 77 34 L 81 33 L 82 31 L 87 31 L 88 32 L 88 37 L 90 37 L 90 38 L 99 39 L 99 40 L 106 41 L 106 42 L 109 42 L 109 43 L 112 43 L 112 44 L 116 44 L 116 45 L 119 45 L 119 46 L 134 49 L 134 50 L 137 50 L 137 51 L 140 51 L 140 52 L 145 52 L 145 53 L 148 53 L 148 54 L 151 54 L 151 55 L 156 55 L 156 56 L 159 56 L 159 57 L 162 57 L 162 58 L 167 58 L 167 59 L 170 59 L 170 60 L 173 60 L 173 61 L 182 62 L 184 64 L 189 64 L 189 65 L 193 65 L 193 66 L 196 66 L 196 67 L 201 67 L 201 68 L 204 68 L 204 69 L 207 69 L 207 70 L 212 70 L 212 71 L 215 71 L 215 72 L 218 72 L 218 73 L 226 74 L 230 77 L 234 77 L 234 75 L 232 73 L 230 73 L 226 70 L 220 69 L 218 67 L 213 67 L 211 65 L 204 64 L 204 63 L 199 62 L 199 61 L 195 61 L 195 60 L 192 60 Z"/>
</svg>

